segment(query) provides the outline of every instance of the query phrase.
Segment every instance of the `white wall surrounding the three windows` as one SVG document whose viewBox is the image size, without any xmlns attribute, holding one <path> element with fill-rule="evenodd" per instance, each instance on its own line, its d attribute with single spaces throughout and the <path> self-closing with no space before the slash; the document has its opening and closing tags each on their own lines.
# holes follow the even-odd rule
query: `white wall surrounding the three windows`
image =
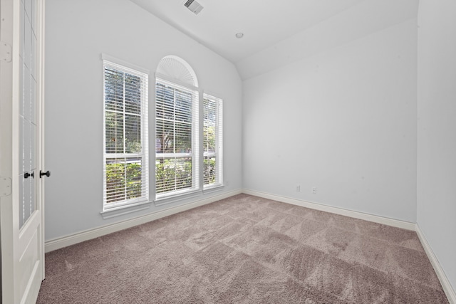
<svg viewBox="0 0 456 304">
<path fill-rule="evenodd" d="M 100 216 L 103 209 L 101 53 L 151 71 L 151 109 L 153 73 L 160 59 L 177 55 L 190 63 L 199 86 L 224 99 L 226 187 L 217 194 L 241 189 L 242 83 L 232 63 L 128 0 L 47 0 L 45 145 L 46 169 L 52 175 L 46 180 L 46 240 L 189 202 L 180 201 L 162 208 L 152 204 L 145 211 L 108 220 Z M 150 137 L 153 139 L 153 132 Z"/>
</svg>

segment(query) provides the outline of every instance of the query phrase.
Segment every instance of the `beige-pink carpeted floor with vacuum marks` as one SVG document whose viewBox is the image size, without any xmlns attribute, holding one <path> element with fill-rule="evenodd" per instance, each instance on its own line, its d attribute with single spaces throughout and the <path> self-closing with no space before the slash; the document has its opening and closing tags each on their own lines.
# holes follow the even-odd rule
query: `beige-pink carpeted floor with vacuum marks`
<svg viewBox="0 0 456 304">
<path fill-rule="evenodd" d="M 38 303 L 448 303 L 414 231 L 240 194 L 46 254 Z"/>
</svg>

